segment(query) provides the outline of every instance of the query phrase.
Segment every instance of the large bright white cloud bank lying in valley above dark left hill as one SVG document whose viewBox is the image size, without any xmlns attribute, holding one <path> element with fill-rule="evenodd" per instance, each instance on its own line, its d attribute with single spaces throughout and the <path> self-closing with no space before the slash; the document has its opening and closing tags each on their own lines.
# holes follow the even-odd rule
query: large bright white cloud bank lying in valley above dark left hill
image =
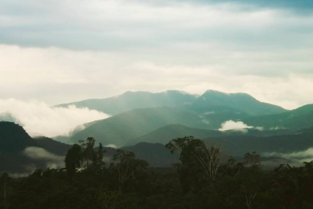
<svg viewBox="0 0 313 209">
<path fill-rule="evenodd" d="M 0 113 L 9 112 L 31 136 L 68 136 L 83 123 L 108 118 L 109 115 L 88 108 L 49 107 L 36 100 L 0 99 Z"/>
</svg>

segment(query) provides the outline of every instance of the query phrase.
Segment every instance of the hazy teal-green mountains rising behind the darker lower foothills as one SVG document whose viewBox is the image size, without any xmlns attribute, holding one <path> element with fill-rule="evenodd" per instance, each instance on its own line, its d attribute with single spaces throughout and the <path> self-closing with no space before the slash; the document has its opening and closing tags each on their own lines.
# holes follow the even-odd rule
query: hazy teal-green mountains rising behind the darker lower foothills
<svg viewBox="0 0 313 209">
<path fill-rule="evenodd" d="M 119 147 L 134 145 L 141 141 L 164 143 L 169 139 L 166 136 L 178 137 L 187 133 L 199 138 L 207 138 L 216 136 L 218 132 L 212 130 L 218 130 L 222 123 L 229 120 L 241 121 L 249 127 L 264 130 L 264 132 L 249 132 L 254 133 L 255 136 L 277 135 L 278 132 L 292 133 L 310 128 L 313 124 L 313 105 L 285 110 L 282 107 L 259 102 L 245 93 L 229 94 L 212 90 L 206 91 L 201 96 L 183 91 L 161 93 L 127 91 L 117 97 L 84 100 L 59 106 L 68 105 L 96 108 L 113 113 L 113 116 L 86 123 L 84 130 L 76 131 L 70 137 L 55 137 L 67 143 L 75 143 L 90 136 L 102 144 L 114 144 Z M 116 107 L 115 111 L 112 111 L 113 107 Z M 120 111 L 126 112 L 118 113 Z M 181 126 L 172 127 L 171 131 L 166 129 L 166 126 L 173 124 Z M 194 131 L 189 129 L 186 132 L 183 126 L 194 128 Z M 160 128 L 165 137 L 163 140 L 154 141 L 151 132 Z"/>
</svg>

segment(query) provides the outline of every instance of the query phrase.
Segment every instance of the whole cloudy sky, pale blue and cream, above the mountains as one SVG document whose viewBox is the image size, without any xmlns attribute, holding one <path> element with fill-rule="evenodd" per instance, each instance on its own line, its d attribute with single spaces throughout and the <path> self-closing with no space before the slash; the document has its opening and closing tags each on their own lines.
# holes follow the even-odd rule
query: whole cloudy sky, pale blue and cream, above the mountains
<svg viewBox="0 0 313 209">
<path fill-rule="evenodd" d="M 2 101 L 214 89 L 313 103 L 311 0 L 0 3 Z"/>
</svg>

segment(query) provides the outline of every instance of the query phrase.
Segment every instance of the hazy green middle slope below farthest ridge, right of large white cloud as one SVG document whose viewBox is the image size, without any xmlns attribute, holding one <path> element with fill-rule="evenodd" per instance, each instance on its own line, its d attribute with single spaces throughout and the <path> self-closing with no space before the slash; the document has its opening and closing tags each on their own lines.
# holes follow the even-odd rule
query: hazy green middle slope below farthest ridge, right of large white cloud
<svg viewBox="0 0 313 209">
<path fill-rule="evenodd" d="M 182 124 L 203 129 L 210 127 L 209 124 L 203 122 L 200 116 L 172 107 L 134 109 L 96 121 L 91 126 L 74 134 L 71 141 L 77 142 L 92 136 L 104 145 L 123 146 L 130 139 L 169 124 Z"/>
</svg>

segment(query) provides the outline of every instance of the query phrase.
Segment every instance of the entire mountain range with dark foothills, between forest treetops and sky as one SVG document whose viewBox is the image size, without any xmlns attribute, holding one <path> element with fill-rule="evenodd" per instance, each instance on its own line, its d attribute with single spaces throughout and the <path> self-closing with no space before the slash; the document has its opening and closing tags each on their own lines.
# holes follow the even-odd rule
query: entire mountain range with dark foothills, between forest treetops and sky
<svg viewBox="0 0 313 209">
<path fill-rule="evenodd" d="M 245 93 L 208 90 L 203 95 L 184 91 L 150 93 L 127 91 L 105 99 L 89 99 L 54 107 L 88 107 L 112 115 L 82 124 L 70 136 L 30 137 L 9 112 L 0 114 L 0 166 L 10 172 L 62 166 L 71 147 L 87 137 L 96 143 L 135 152 L 151 166 L 170 166 L 178 161 L 165 144 L 177 137 L 194 136 L 207 143 L 223 144 L 228 155 L 244 153 L 305 152 L 313 147 L 313 104 L 294 110 L 260 102 Z M 241 127 L 223 128 L 231 121 Z M 222 131 L 224 130 L 224 131 Z M 67 144 L 65 144 L 67 143 Z M 114 148 L 105 148 L 110 159 Z M 288 155 L 289 156 L 289 155 Z M 282 160 L 282 159 L 276 159 Z M 289 159 L 287 159 L 289 160 Z M 278 162 L 277 161 L 277 162 Z M 27 166 L 26 166 L 27 165 Z M 25 167 L 26 166 L 26 167 Z"/>
</svg>

